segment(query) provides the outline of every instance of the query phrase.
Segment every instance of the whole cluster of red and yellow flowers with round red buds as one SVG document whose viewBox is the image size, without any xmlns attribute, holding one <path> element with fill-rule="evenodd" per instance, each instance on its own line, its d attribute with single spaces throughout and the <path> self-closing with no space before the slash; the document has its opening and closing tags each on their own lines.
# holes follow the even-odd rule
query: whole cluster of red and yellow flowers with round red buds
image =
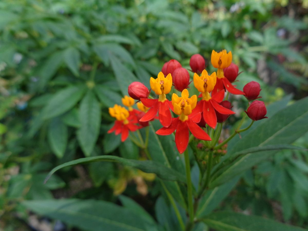
<svg viewBox="0 0 308 231">
<path fill-rule="evenodd" d="M 157 130 L 156 134 L 165 136 L 175 132 L 176 148 L 180 153 L 188 146 L 189 131 L 199 140 L 211 141 L 213 137 L 205 132 L 205 125 L 215 129 L 217 123 L 223 123 L 229 115 L 235 114 L 231 110 L 228 97 L 224 100 L 225 92 L 245 95 L 250 101 L 260 98 L 261 91 L 257 82 L 246 84 L 243 91 L 232 85 L 240 73 L 237 65 L 232 63 L 231 51 L 213 51 L 211 63 L 217 71 L 209 75 L 205 70 L 205 59 L 201 55 L 193 55 L 190 59 L 189 65 L 194 72 L 193 85 L 200 92 L 198 97 L 189 97 L 187 88 L 192 82 L 189 72 L 175 59 L 164 63 L 157 78 L 150 78 L 151 90 L 158 95 L 157 98 L 150 96 L 150 91 L 143 83 L 131 83 L 128 87 L 130 97 L 124 96 L 122 99 L 128 110 L 119 105 L 109 108 L 110 115 L 115 117 L 116 121 L 108 132 L 122 134 L 121 140 L 124 141 L 129 131 L 134 132 L 148 126 L 149 121 L 159 119 L 163 127 Z M 167 98 L 166 95 L 172 90 L 172 85 L 181 92 L 181 96 L 173 93 L 170 100 L 170 96 Z M 133 108 L 134 99 L 140 101 L 137 102 L 139 110 Z M 266 118 L 266 107 L 258 100 L 251 103 L 245 112 L 252 120 Z"/>
</svg>

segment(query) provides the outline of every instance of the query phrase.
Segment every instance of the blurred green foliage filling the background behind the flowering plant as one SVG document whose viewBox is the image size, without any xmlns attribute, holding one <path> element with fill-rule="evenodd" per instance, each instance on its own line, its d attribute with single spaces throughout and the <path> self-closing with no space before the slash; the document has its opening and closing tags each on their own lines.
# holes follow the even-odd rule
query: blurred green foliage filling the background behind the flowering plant
<svg viewBox="0 0 308 231">
<path fill-rule="evenodd" d="M 86 173 L 83 168 L 65 168 L 48 184 L 39 182 L 51 168 L 77 157 L 111 153 L 138 159 L 135 144 L 120 144 L 119 136 L 106 135 L 113 121 L 107 108 L 121 102 L 131 82 L 149 87 L 149 78 L 169 59 L 188 67 L 190 56 L 200 53 L 211 69 L 212 49 L 231 50 L 233 62 L 244 71 L 238 88 L 252 80 L 259 82 L 267 103 L 285 93 L 294 92 L 295 99 L 306 96 L 307 7 L 307 1 L 274 0 L 1 1 L 0 217 L 4 225 L 15 219 L 15 211 L 17 217 L 27 219 L 25 207 L 19 203 L 25 199 L 117 200 L 112 195 L 119 189 L 116 182 L 129 182 L 132 177 L 123 175 L 137 174 L 134 169 L 91 163 Z M 244 107 L 242 104 L 238 108 Z M 275 112 L 280 109 L 277 106 Z M 231 125 L 237 120 L 233 116 Z M 239 205 L 243 210 L 256 208 L 266 197 L 270 202 L 254 209 L 254 214 L 264 215 L 271 210 L 271 201 L 278 201 L 285 221 L 307 227 L 306 154 L 275 154 L 249 170 L 237 187 L 241 197 L 233 198 L 232 203 L 244 201 L 245 205 Z M 286 192 L 278 187 L 282 181 L 294 191 L 282 193 Z M 71 192 L 63 196 L 61 190 L 55 190 L 63 187 Z M 149 203 L 155 203 L 159 189 L 149 187 Z M 130 184 L 126 192 L 138 195 Z M 170 210 L 162 197 L 155 208 L 166 214 Z M 155 214 L 154 209 L 151 213 Z M 173 216 L 170 224 L 161 214 L 156 218 L 161 226 L 172 227 L 173 213 L 168 214 Z"/>
</svg>

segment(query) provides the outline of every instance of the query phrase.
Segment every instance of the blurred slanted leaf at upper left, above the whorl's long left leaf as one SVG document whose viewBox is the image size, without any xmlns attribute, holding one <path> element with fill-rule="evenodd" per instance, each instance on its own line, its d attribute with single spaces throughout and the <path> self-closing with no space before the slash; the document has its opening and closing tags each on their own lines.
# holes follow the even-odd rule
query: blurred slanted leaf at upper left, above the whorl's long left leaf
<svg viewBox="0 0 308 231">
<path fill-rule="evenodd" d="M 48 81 L 55 75 L 63 62 L 63 51 L 56 51 L 47 59 L 39 70 L 39 89 L 42 90 Z"/>
</svg>

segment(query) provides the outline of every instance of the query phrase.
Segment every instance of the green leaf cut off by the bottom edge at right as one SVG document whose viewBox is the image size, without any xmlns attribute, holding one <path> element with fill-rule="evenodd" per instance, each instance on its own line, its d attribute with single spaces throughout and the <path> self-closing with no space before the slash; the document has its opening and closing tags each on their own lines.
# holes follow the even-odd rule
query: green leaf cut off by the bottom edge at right
<svg viewBox="0 0 308 231">
<path fill-rule="evenodd" d="M 247 216 L 241 213 L 217 212 L 202 219 L 210 228 L 217 231 L 304 231 L 300 227 L 285 225 L 263 217 Z"/>
</svg>

